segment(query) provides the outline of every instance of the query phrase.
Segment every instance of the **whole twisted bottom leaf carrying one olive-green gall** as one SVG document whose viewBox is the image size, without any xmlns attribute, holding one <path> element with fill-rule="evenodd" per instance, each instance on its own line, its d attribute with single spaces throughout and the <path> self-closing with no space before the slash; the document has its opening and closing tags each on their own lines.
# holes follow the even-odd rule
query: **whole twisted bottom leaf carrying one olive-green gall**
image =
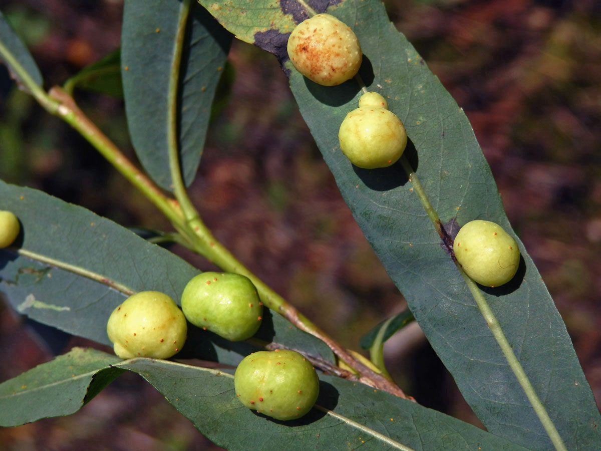
<svg viewBox="0 0 601 451">
<path fill-rule="evenodd" d="M 276 450 L 282 444 L 291 450 L 335 451 L 348 449 L 349 443 L 362 449 L 400 449 L 394 441 L 423 451 L 525 450 L 409 400 L 323 375 L 317 401 L 323 410 L 279 422 L 243 407 L 233 376 L 224 370 L 149 358 L 121 361 L 90 348 L 73 348 L 0 384 L 0 425 L 75 413 L 126 369 L 150 382 L 204 435 L 231 451 Z"/>
</svg>

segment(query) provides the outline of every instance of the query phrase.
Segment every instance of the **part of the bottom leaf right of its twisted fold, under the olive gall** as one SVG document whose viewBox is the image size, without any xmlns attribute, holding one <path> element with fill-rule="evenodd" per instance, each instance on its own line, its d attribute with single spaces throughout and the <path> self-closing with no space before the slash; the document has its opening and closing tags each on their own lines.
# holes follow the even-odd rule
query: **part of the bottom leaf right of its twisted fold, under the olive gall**
<svg viewBox="0 0 601 451">
<path fill-rule="evenodd" d="M 526 450 L 409 400 L 331 376 L 320 376 L 317 399 L 331 413 L 314 408 L 299 420 L 280 422 L 243 407 L 233 376 L 221 370 L 150 359 L 119 367 L 139 373 L 199 431 L 230 451 Z"/>
</svg>

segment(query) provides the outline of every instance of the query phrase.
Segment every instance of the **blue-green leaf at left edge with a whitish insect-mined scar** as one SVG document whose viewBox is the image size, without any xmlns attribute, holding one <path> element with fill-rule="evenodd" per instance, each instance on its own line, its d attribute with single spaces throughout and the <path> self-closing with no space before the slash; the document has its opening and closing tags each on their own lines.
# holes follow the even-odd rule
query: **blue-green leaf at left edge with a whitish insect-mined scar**
<svg viewBox="0 0 601 451">
<path fill-rule="evenodd" d="M 179 304 L 198 270 L 135 233 L 94 213 L 30 188 L 0 181 L 0 210 L 14 212 L 22 234 L 0 249 L 0 292 L 22 314 L 71 334 L 111 345 L 106 321 L 132 292 L 157 290 Z M 266 312 L 266 318 L 270 314 Z M 277 319 L 258 337 L 333 361 L 327 346 Z M 237 364 L 257 346 L 189 328 L 178 357 Z"/>
</svg>

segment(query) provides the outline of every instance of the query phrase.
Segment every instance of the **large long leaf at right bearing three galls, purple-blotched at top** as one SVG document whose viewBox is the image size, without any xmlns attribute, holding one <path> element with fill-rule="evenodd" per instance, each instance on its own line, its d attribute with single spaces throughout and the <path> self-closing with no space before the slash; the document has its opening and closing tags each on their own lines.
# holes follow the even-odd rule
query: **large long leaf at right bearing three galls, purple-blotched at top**
<svg viewBox="0 0 601 451">
<path fill-rule="evenodd" d="M 257 29 L 269 28 L 278 23 L 274 15 L 279 14 L 279 20 L 288 17 L 280 6 L 290 3 L 274 2 L 264 11 L 233 1 L 219 10 L 221 15 L 215 14 L 235 30 L 239 19 L 233 11 L 239 5 L 247 8 L 245 20 L 252 18 Z M 308 3 L 323 12 L 322 2 Z M 364 51 L 359 73 L 368 89 L 385 96 L 389 109 L 404 122 L 410 141 L 405 153 L 442 222 L 462 225 L 488 219 L 514 235 L 465 114 L 389 22 L 381 2 L 344 0 L 328 13 L 358 35 Z M 273 51 L 255 36 L 255 44 Z M 283 43 L 285 35 L 272 35 L 272 41 Z M 279 49 L 285 51 L 285 46 Z M 341 153 L 338 127 L 357 107 L 359 85 L 316 85 L 293 70 L 285 54 L 279 58 L 346 203 L 478 418 L 493 434 L 532 449 L 552 449 L 401 165 L 361 170 Z M 594 397 L 540 274 L 521 244 L 520 251 L 523 259 L 514 280 L 484 289 L 486 297 L 567 448 L 596 449 L 601 446 L 601 416 Z"/>
</svg>

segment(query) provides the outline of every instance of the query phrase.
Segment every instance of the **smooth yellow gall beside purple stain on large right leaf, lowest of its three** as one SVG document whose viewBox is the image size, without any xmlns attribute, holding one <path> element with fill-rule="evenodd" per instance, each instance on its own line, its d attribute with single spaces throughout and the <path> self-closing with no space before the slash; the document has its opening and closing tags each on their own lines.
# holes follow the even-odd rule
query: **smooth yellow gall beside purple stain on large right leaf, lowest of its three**
<svg viewBox="0 0 601 451">
<path fill-rule="evenodd" d="M 457 262 L 477 283 L 498 287 L 516 274 L 520 251 L 516 241 L 503 228 L 490 221 L 470 221 L 453 242 Z"/>
</svg>

